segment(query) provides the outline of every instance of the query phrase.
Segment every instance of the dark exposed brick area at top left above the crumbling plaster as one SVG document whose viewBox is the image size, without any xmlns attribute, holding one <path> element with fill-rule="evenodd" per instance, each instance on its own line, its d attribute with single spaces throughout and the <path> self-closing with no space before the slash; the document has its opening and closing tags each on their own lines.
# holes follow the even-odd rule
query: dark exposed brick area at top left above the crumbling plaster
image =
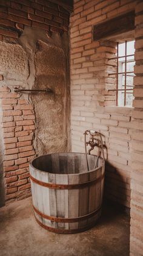
<svg viewBox="0 0 143 256">
<path fill-rule="evenodd" d="M 46 0 L 1 0 L 0 40 L 15 41 L 24 26 L 63 33 L 68 30 L 69 12 Z M 8 38 L 7 38 L 8 37 Z"/>
</svg>

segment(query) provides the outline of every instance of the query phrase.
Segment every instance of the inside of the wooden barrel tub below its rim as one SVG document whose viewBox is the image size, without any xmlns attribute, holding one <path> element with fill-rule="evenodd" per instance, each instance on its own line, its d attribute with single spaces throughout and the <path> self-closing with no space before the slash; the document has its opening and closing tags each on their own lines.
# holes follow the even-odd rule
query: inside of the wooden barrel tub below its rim
<svg viewBox="0 0 143 256">
<path fill-rule="evenodd" d="M 89 171 L 95 168 L 96 155 L 88 155 Z M 101 166 L 102 159 L 98 159 L 98 166 Z M 53 153 L 35 158 L 32 165 L 40 171 L 53 174 L 78 174 L 87 172 L 85 154 L 81 153 Z"/>
</svg>

